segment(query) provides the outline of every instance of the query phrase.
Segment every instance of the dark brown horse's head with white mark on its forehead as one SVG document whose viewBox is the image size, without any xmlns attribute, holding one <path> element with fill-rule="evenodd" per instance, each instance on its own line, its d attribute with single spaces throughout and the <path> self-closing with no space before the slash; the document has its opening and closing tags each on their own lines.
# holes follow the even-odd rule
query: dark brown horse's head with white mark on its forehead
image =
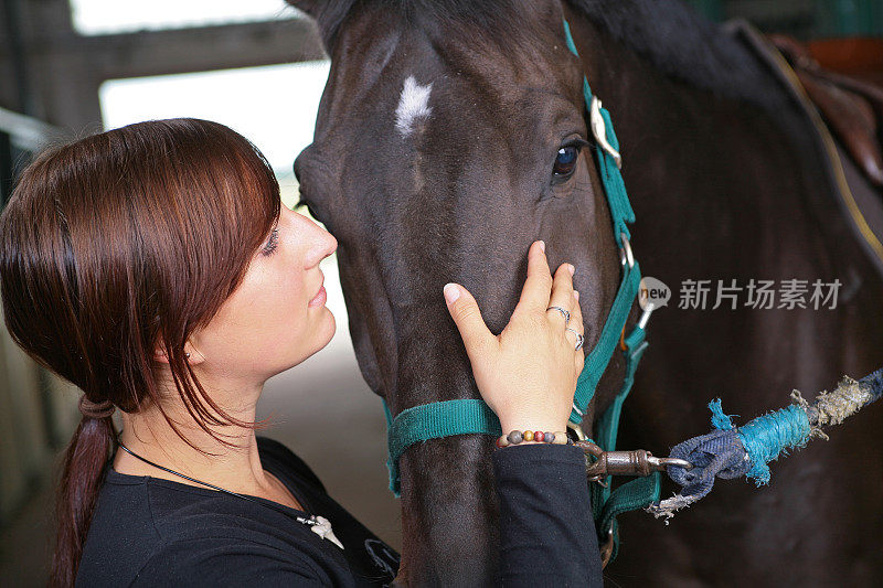
<svg viewBox="0 0 883 588">
<path fill-rule="evenodd" d="M 553 271 L 576 266 L 592 349 L 619 254 L 558 2 L 289 1 L 317 19 L 332 60 L 295 164 L 301 199 L 338 238 L 359 365 L 392 414 L 479 397 L 443 286 L 466 286 L 499 333 L 536 238 Z M 487 577 L 492 442 L 449 437 L 403 456 L 411 579 Z"/>
</svg>

